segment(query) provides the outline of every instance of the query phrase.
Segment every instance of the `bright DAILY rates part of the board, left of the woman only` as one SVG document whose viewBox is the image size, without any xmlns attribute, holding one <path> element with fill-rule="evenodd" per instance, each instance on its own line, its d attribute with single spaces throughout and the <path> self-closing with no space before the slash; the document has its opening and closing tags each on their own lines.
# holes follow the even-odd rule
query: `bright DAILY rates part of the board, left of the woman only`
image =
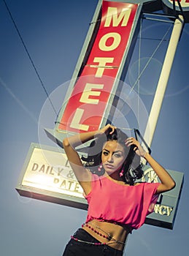
<svg viewBox="0 0 189 256">
<path fill-rule="evenodd" d="M 66 154 L 58 147 L 31 143 L 16 189 L 26 197 L 88 208 Z"/>
</svg>

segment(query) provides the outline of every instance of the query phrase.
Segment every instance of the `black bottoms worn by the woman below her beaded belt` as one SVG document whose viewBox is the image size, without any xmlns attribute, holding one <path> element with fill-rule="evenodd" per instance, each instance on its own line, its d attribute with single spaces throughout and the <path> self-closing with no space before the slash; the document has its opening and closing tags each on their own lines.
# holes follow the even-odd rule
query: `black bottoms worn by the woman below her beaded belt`
<svg viewBox="0 0 189 256">
<path fill-rule="evenodd" d="M 77 232 L 74 233 L 74 238 L 82 241 L 88 241 L 90 243 L 99 243 L 96 238 L 90 236 L 90 234 L 82 228 L 79 228 Z M 114 249 L 107 244 L 87 244 L 80 241 L 75 241 L 72 238 L 66 245 L 63 256 L 123 256 L 123 252 Z"/>
</svg>

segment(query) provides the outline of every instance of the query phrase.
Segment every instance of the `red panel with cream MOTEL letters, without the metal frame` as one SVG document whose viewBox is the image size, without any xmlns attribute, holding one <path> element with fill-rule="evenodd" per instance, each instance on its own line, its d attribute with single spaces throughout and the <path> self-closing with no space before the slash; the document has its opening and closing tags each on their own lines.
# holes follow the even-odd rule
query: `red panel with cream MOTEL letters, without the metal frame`
<svg viewBox="0 0 189 256">
<path fill-rule="evenodd" d="M 138 4 L 103 1 L 101 24 L 58 129 L 98 129 L 128 45 Z"/>
</svg>

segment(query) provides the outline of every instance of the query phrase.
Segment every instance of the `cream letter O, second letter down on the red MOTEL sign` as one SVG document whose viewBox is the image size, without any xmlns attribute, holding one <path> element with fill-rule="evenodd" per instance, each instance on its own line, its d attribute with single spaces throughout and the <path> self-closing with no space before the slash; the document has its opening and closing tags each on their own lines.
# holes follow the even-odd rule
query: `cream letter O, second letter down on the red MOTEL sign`
<svg viewBox="0 0 189 256">
<path fill-rule="evenodd" d="M 107 39 L 110 37 L 113 37 L 113 42 L 112 45 L 106 45 Z M 100 42 L 99 42 L 99 48 L 104 51 L 109 51 L 109 50 L 115 50 L 118 45 L 120 45 L 120 34 L 118 33 L 108 33 L 104 34 L 103 37 L 101 37 Z"/>
</svg>

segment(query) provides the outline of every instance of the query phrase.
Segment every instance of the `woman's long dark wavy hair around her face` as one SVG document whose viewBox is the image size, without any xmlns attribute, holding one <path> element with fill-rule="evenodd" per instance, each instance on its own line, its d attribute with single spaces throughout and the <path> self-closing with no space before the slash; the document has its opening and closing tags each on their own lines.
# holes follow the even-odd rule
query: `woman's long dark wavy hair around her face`
<svg viewBox="0 0 189 256">
<path fill-rule="evenodd" d="M 120 167 L 120 172 L 122 172 L 121 178 L 126 184 L 134 185 L 136 179 L 142 178 L 143 170 L 142 165 L 140 164 L 140 157 L 135 153 L 134 146 L 126 146 L 125 141 L 128 138 L 124 132 L 120 129 L 115 129 L 115 132 L 109 134 L 112 129 L 109 129 L 104 136 L 96 138 L 90 143 L 88 150 L 88 157 L 82 156 L 82 160 L 85 162 L 85 167 L 99 176 L 104 175 L 104 168 L 101 166 L 101 153 L 102 147 L 105 142 L 109 140 L 117 140 L 117 143 L 123 146 L 126 152 L 126 159 L 123 162 L 123 165 Z"/>
</svg>

